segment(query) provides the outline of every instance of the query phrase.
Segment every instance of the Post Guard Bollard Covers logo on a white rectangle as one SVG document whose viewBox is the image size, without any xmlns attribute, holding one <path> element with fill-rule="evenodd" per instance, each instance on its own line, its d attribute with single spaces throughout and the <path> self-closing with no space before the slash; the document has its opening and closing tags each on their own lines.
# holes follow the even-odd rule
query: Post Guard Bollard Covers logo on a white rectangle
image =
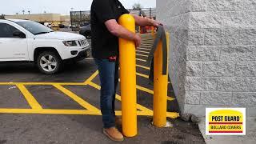
<svg viewBox="0 0 256 144">
<path fill-rule="evenodd" d="M 246 135 L 246 108 L 206 108 L 206 135 Z"/>
</svg>

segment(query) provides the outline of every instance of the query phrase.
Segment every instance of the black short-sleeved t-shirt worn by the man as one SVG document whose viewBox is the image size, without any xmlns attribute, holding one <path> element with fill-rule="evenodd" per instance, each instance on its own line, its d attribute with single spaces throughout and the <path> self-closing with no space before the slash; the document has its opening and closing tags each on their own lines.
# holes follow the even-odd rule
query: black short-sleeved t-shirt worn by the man
<svg viewBox="0 0 256 144">
<path fill-rule="evenodd" d="M 118 0 L 94 0 L 90 8 L 91 46 L 94 58 L 118 56 L 118 37 L 107 30 L 105 22 L 129 11 Z"/>
</svg>

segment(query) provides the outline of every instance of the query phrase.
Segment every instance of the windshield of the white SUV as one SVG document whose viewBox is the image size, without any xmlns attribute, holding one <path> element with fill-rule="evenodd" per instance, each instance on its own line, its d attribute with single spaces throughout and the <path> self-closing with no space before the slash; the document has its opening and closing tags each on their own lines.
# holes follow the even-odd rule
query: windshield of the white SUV
<svg viewBox="0 0 256 144">
<path fill-rule="evenodd" d="M 38 34 L 46 34 L 50 32 L 54 32 L 50 28 L 43 26 L 42 24 L 38 22 L 32 22 L 32 21 L 25 21 L 25 22 L 16 22 L 19 26 L 24 27 L 26 30 L 29 30 L 30 33 L 34 35 Z"/>
</svg>

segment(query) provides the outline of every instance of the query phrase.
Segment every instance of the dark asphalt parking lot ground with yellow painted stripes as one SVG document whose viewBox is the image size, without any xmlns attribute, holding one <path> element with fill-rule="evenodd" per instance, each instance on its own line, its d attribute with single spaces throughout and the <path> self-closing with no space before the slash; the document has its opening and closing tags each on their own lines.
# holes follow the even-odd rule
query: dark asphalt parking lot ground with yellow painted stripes
<svg viewBox="0 0 256 144">
<path fill-rule="evenodd" d="M 174 126 L 159 129 L 151 125 L 154 92 L 146 59 L 153 38 L 142 38 L 136 54 L 138 137 L 126 138 L 124 143 L 204 143 L 195 124 L 177 118 L 171 84 L 167 117 Z M 1 63 L 0 70 L 0 144 L 111 143 L 102 134 L 100 82 L 93 58 L 66 64 L 54 75 L 41 74 L 34 65 L 22 63 Z M 121 115 L 120 90 L 116 99 Z"/>
</svg>

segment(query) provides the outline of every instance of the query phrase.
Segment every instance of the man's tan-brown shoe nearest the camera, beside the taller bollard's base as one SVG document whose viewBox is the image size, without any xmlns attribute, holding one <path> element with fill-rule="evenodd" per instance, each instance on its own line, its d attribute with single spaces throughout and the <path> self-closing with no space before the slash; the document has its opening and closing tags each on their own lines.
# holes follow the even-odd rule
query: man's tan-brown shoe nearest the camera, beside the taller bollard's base
<svg viewBox="0 0 256 144">
<path fill-rule="evenodd" d="M 103 129 L 103 133 L 114 142 L 122 142 L 124 140 L 122 134 L 115 127 Z"/>
</svg>

